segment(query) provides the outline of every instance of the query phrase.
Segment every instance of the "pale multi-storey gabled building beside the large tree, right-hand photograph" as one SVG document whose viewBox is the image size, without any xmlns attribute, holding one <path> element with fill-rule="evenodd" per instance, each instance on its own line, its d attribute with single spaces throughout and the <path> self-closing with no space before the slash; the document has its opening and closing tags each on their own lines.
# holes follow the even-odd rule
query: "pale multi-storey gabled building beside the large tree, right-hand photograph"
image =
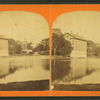
<svg viewBox="0 0 100 100">
<path fill-rule="evenodd" d="M 83 37 L 72 33 L 66 33 L 64 37 L 72 44 L 71 57 L 87 57 L 87 41 Z"/>
</svg>

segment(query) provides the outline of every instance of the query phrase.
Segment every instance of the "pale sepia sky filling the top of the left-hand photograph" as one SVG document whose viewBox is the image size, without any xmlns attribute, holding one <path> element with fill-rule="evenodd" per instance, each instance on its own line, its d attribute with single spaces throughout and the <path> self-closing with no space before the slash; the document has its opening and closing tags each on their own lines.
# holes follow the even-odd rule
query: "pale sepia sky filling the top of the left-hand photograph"
<svg viewBox="0 0 100 100">
<path fill-rule="evenodd" d="M 20 41 L 33 42 L 35 46 L 49 38 L 49 25 L 40 14 L 25 11 L 0 12 L 0 35 Z"/>
</svg>

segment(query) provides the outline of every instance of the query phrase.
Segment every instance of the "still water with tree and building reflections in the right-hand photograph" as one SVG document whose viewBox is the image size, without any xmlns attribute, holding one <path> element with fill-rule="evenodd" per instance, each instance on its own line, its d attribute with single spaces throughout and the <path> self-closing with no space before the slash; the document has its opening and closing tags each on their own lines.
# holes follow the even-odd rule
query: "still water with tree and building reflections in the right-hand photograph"
<svg viewBox="0 0 100 100">
<path fill-rule="evenodd" d="M 53 60 L 52 84 L 100 84 L 100 58 Z"/>
</svg>

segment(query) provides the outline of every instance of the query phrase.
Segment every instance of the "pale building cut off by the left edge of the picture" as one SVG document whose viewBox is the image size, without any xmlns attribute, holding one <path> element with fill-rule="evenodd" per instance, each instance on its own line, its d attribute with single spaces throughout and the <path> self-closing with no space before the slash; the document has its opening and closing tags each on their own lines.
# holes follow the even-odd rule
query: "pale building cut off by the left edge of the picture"
<svg viewBox="0 0 100 100">
<path fill-rule="evenodd" d="M 8 52 L 8 39 L 0 35 L 0 57 L 9 56 Z"/>
</svg>

